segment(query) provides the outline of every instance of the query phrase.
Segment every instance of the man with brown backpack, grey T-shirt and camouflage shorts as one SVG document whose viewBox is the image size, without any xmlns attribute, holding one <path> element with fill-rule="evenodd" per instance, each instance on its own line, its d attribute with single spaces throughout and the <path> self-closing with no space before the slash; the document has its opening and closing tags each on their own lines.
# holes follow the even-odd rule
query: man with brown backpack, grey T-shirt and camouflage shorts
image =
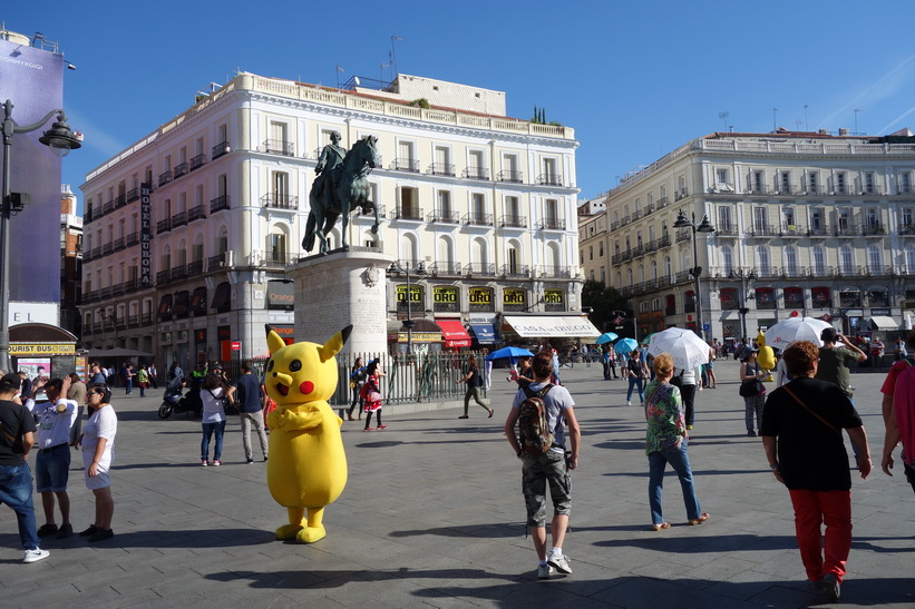
<svg viewBox="0 0 915 609">
<path fill-rule="evenodd" d="M 505 421 L 505 435 L 522 460 L 522 490 L 537 552 L 537 578 L 547 579 L 554 568 L 571 574 L 562 546 L 572 509 L 572 477 L 578 465 L 582 432 L 575 402 L 564 386 L 549 384 L 553 354 L 542 351 L 533 361 L 534 382 L 515 395 Z M 565 422 L 565 424 L 563 424 Z M 517 426 L 517 430 L 516 430 Z M 566 445 L 566 429 L 567 444 Z M 546 487 L 553 501 L 553 549 L 546 552 Z"/>
</svg>

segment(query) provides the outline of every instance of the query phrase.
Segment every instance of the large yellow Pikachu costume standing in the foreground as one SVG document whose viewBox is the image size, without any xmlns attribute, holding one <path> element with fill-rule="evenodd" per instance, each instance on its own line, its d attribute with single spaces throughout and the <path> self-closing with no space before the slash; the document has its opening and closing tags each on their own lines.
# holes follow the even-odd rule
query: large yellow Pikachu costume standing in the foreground
<svg viewBox="0 0 915 609">
<path fill-rule="evenodd" d="M 337 390 L 337 360 L 349 338 L 349 325 L 327 343 L 286 345 L 270 326 L 264 386 L 276 402 L 267 416 L 270 461 L 266 483 L 270 494 L 289 510 L 289 524 L 276 529 L 276 539 L 313 543 L 327 536 L 321 523 L 324 507 L 333 503 L 347 485 L 347 455 L 340 425 L 328 404 Z M 308 511 L 308 519 L 304 519 Z"/>
</svg>

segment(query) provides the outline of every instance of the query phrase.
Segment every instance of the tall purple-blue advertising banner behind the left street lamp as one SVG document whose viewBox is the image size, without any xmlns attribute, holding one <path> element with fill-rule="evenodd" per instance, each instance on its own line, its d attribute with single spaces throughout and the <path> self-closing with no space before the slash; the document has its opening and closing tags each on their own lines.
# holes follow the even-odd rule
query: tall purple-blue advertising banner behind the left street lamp
<svg viewBox="0 0 915 609">
<path fill-rule="evenodd" d="M 20 126 L 62 108 L 64 56 L 0 40 L 0 104 L 7 99 Z M 55 120 L 56 116 L 41 128 L 12 138 L 10 190 L 31 197 L 10 220 L 12 303 L 60 303 L 60 158 L 38 141 Z"/>
</svg>

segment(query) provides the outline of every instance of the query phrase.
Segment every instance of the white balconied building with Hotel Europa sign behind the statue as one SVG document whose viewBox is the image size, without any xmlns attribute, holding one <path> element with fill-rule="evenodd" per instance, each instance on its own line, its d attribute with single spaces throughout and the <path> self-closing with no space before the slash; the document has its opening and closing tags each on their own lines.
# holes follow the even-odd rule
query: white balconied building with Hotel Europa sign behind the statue
<svg viewBox="0 0 915 609">
<path fill-rule="evenodd" d="M 412 317 L 484 325 L 580 310 L 574 131 L 504 115 L 505 94 L 420 77 L 328 89 L 240 73 L 87 176 L 84 345 L 164 366 L 263 355 L 265 323 L 291 333 L 284 269 L 306 255 L 331 131 L 347 148 L 378 138 L 381 225 L 358 214 L 348 240 L 411 271 L 409 296 L 389 277 L 392 322 L 408 297 Z"/>
</svg>

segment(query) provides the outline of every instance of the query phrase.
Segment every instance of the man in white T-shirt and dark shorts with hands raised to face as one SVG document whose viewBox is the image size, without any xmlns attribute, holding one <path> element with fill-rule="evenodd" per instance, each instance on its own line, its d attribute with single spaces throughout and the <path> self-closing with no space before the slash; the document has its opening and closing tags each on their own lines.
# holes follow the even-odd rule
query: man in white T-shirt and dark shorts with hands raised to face
<svg viewBox="0 0 915 609">
<path fill-rule="evenodd" d="M 35 487 L 41 493 L 41 504 L 45 508 L 45 524 L 38 529 L 38 537 L 56 534 L 57 539 L 64 539 L 74 532 L 67 482 L 70 477 L 70 428 L 76 422 L 79 404 L 67 400 L 69 376 L 50 381 L 39 379 L 32 393 L 38 393 L 41 389 L 48 395 L 47 402 L 36 404 L 33 395 L 26 400 L 26 407 L 38 416 Z M 53 517 L 55 497 L 60 505 L 59 528 Z"/>
</svg>

